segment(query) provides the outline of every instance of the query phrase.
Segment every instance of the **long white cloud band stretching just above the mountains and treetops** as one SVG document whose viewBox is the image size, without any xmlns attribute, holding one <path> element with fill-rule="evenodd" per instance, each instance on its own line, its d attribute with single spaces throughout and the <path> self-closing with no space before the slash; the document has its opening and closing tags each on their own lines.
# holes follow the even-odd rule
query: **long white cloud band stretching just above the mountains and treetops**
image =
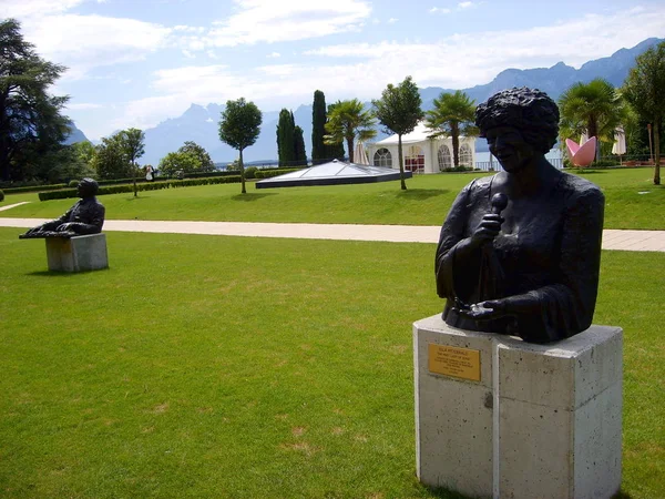
<svg viewBox="0 0 665 499">
<path fill-rule="evenodd" d="M 154 72 L 156 96 L 125 103 L 124 114 L 95 126 L 104 126 L 100 135 L 127 126 L 145 129 L 181 114 L 192 102 L 207 104 L 241 96 L 263 110 L 295 108 L 311 101 L 313 89 L 324 90 L 330 102 L 369 100 L 380 95 L 387 83 L 399 83 L 408 74 L 420 88 L 462 89 L 487 83 L 507 68 L 550 67 L 559 61 L 579 67 L 663 32 L 665 6 L 612 16 L 589 14 L 519 31 L 454 34 L 428 43 L 328 45 L 305 52 L 307 57 L 295 59 L 297 64 L 253 69 L 192 64 Z"/>
</svg>

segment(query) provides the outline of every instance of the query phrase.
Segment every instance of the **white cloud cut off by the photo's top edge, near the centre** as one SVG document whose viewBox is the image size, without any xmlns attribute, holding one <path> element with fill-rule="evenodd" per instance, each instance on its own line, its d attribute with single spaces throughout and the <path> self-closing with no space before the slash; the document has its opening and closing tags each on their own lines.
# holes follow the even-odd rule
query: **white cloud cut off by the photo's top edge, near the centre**
<svg viewBox="0 0 665 499">
<path fill-rule="evenodd" d="M 192 50 L 280 42 L 357 31 L 371 8 L 361 0 L 314 2 L 311 0 L 235 0 L 237 12 L 215 22 L 202 37 L 185 40 Z"/>
</svg>

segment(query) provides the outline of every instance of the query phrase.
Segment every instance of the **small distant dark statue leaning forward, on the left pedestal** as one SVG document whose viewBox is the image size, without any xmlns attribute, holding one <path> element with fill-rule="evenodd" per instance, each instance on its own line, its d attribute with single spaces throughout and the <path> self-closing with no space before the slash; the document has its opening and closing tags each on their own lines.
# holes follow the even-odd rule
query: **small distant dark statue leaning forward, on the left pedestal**
<svg viewBox="0 0 665 499">
<path fill-rule="evenodd" d="M 104 225 L 104 206 L 96 200 L 99 185 L 92 179 L 79 182 L 76 193 L 81 197 L 60 218 L 38 225 L 19 237 L 73 237 L 85 234 L 99 234 Z"/>
</svg>

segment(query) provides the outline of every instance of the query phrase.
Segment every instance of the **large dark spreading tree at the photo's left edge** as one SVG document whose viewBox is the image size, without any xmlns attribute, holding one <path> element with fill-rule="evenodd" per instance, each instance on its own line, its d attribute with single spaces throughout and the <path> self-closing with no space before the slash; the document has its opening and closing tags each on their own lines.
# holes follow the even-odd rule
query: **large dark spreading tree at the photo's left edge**
<svg viewBox="0 0 665 499">
<path fill-rule="evenodd" d="M 21 24 L 0 22 L 0 173 L 2 180 L 23 177 L 28 157 L 62 147 L 70 120 L 61 114 L 68 96 L 48 93 L 65 70 L 41 59 L 21 34 Z"/>
</svg>

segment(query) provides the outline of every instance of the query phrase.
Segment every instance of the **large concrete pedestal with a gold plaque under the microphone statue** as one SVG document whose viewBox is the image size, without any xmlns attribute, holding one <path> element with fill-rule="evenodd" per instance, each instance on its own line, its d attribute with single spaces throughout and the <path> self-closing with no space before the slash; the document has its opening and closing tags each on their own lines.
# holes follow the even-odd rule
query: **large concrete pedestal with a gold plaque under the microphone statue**
<svg viewBox="0 0 665 499">
<path fill-rule="evenodd" d="M 611 498 L 621 486 L 623 332 L 533 345 L 413 325 L 419 479 L 482 498 Z"/>
</svg>

